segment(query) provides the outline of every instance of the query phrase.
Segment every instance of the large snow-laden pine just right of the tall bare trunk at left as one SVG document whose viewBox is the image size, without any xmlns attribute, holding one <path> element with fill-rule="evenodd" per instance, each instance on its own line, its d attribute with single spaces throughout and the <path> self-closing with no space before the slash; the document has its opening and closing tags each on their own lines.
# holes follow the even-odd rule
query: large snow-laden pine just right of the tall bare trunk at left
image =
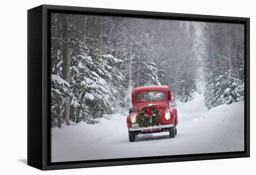
<svg viewBox="0 0 256 175">
<path fill-rule="evenodd" d="M 73 120 L 94 123 L 94 119 L 115 112 L 115 96 L 112 94 L 115 89 L 107 82 L 112 75 L 105 69 L 108 65 L 100 62 L 97 50 L 94 54 L 89 51 L 93 56 L 86 53 L 79 52 L 73 56 L 71 106 Z"/>
</svg>

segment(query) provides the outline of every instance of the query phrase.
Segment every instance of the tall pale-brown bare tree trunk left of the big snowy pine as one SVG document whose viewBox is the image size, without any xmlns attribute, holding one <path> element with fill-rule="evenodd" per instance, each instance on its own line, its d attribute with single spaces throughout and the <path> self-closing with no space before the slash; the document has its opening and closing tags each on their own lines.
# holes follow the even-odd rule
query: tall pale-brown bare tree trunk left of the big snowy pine
<svg viewBox="0 0 256 175">
<path fill-rule="evenodd" d="M 70 82 L 70 60 L 71 60 L 71 49 L 70 49 L 70 14 L 67 15 L 67 83 Z M 67 98 L 66 98 L 66 125 L 69 124 L 69 114 L 70 114 L 70 103 L 69 103 L 69 87 L 67 87 Z"/>
</svg>

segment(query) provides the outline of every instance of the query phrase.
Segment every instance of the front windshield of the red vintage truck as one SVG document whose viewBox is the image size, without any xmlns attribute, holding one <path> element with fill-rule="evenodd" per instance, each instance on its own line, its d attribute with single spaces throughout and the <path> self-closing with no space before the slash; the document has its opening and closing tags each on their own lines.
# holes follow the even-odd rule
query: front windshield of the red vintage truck
<svg viewBox="0 0 256 175">
<path fill-rule="evenodd" d="M 141 92 L 135 96 L 136 103 L 144 101 L 159 101 L 166 100 L 166 93 L 164 91 L 150 91 L 150 92 Z"/>
</svg>

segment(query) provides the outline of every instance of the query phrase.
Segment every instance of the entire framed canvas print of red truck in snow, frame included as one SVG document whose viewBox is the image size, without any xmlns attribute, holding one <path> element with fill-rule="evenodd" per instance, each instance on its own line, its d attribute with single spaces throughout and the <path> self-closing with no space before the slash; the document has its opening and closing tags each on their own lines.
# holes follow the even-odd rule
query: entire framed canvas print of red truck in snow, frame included
<svg viewBox="0 0 256 175">
<path fill-rule="evenodd" d="M 249 18 L 28 10 L 28 165 L 249 156 Z"/>
</svg>

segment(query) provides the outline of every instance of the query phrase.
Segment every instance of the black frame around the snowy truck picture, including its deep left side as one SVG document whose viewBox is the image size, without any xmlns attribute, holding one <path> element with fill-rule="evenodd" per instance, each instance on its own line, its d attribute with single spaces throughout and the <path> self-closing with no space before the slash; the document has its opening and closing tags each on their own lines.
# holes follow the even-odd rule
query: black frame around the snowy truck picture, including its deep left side
<svg viewBox="0 0 256 175">
<path fill-rule="evenodd" d="M 154 156 L 117 158 L 106 160 L 51 162 L 50 128 L 50 13 L 94 14 L 153 19 L 178 19 L 187 21 L 239 23 L 245 27 L 245 110 L 244 151 L 206 153 L 176 156 Z M 144 163 L 195 161 L 249 157 L 249 18 L 180 14 L 167 12 L 145 12 L 88 8 L 75 6 L 41 5 L 27 11 L 27 164 L 41 170 L 73 169 Z"/>
</svg>

